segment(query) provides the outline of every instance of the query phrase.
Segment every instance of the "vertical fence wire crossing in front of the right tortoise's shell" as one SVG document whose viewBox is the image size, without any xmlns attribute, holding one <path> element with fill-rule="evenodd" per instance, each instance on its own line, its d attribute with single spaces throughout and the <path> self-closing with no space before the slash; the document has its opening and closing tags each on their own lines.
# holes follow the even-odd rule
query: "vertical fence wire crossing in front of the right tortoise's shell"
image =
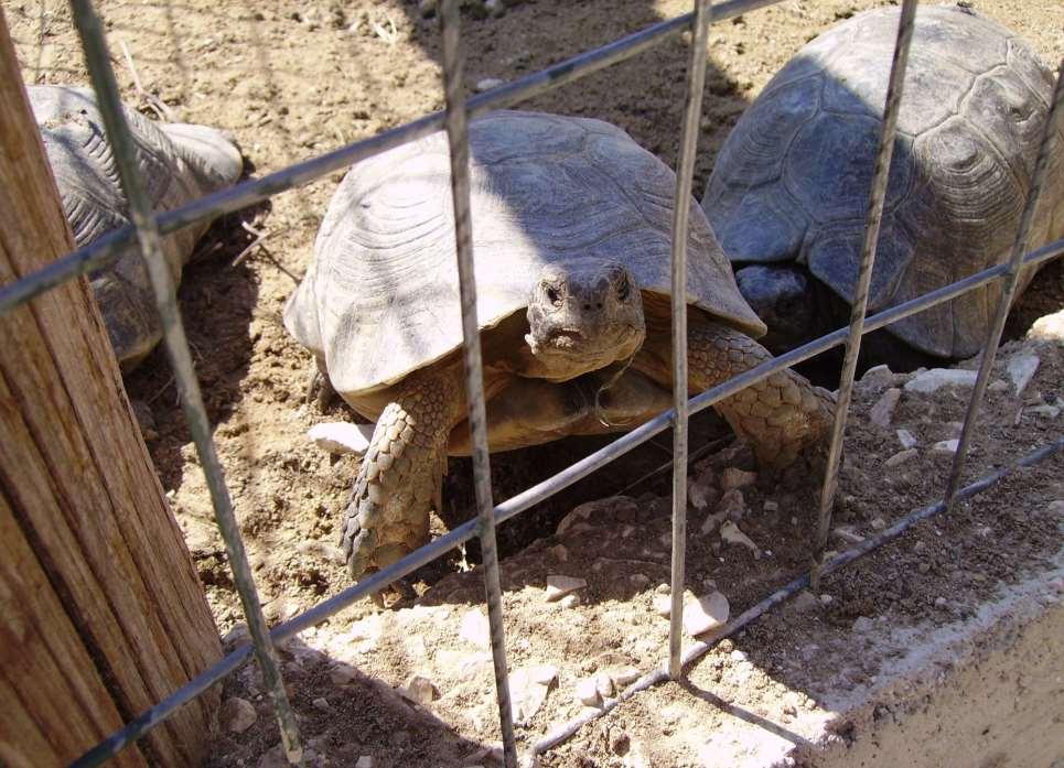
<svg viewBox="0 0 1064 768">
<path fill-rule="evenodd" d="M 880 224 L 883 219 L 883 199 L 890 179 L 891 158 L 894 154 L 894 136 L 898 128 L 898 112 L 902 100 L 902 86 L 905 79 L 905 65 L 909 63 L 909 46 L 913 39 L 913 21 L 916 15 L 916 0 L 905 0 L 898 20 L 898 39 L 891 62 L 890 79 L 886 86 L 886 100 L 883 107 L 883 127 L 880 131 L 879 151 L 875 154 L 875 170 L 868 199 L 868 216 L 864 223 L 864 242 L 861 246 L 861 264 L 853 289 L 853 309 L 850 313 L 850 331 L 846 339 L 846 355 L 842 359 L 842 376 L 839 379 L 839 397 L 836 404 L 835 422 L 831 426 L 831 445 L 828 448 L 827 467 L 824 472 L 824 486 L 820 489 L 820 507 L 817 516 L 816 540 L 813 550 L 813 566 L 809 573 L 814 589 L 819 587 L 820 562 L 827 545 L 831 527 L 831 507 L 838 489 L 839 458 L 842 453 L 842 436 L 850 411 L 850 397 L 853 392 L 853 375 L 857 358 L 861 351 L 861 336 L 864 333 L 864 315 L 868 311 L 868 290 L 872 281 L 872 267 L 875 263 L 875 245 L 879 240 Z"/>
</svg>

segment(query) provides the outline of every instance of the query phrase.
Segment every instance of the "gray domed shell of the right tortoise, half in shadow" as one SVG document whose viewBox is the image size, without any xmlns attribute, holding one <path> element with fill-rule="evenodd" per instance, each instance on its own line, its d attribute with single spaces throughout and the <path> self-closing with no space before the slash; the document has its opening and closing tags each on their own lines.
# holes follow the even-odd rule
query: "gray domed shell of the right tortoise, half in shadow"
<svg viewBox="0 0 1064 768">
<path fill-rule="evenodd" d="M 740 119 L 702 201 L 732 261 L 797 261 L 852 300 L 898 19 L 896 8 L 868 11 L 820 35 Z M 957 8 L 918 9 L 870 313 L 1007 259 L 1052 93 L 1052 73 L 1007 30 Z M 1032 248 L 1064 232 L 1062 154 Z M 967 357 L 999 295 L 995 283 L 890 331 Z"/>
</svg>

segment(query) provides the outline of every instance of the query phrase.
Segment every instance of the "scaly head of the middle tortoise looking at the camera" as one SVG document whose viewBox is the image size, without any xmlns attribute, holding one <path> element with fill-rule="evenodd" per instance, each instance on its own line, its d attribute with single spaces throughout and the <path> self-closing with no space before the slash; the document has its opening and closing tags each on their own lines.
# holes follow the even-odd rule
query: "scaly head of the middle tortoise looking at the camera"
<svg viewBox="0 0 1064 768">
<path fill-rule="evenodd" d="M 630 359 L 643 345 L 643 300 L 619 261 L 547 264 L 528 300 L 525 336 L 539 374 L 566 381 Z"/>
</svg>

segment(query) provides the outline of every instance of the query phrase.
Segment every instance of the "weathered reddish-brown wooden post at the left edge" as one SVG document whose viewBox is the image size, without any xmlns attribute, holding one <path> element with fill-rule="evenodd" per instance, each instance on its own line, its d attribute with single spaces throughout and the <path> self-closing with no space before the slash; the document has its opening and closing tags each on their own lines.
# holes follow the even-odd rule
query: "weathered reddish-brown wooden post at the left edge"
<svg viewBox="0 0 1064 768">
<path fill-rule="evenodd" d="M 72 247 L 0 11 L 0 284 Z M 88 284 L 0 317 L 0 765 L 65 766 L 219 658 Z M 217 704 L 115 765 L 197 765 Z"/>
</svg>

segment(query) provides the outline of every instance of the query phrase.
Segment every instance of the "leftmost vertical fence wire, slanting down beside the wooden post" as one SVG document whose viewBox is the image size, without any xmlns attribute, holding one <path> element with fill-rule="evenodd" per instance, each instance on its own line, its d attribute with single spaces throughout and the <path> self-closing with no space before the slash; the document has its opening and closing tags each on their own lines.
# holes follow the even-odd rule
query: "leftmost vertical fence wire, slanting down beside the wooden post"
<svg viewBox="0 0 1064 768">
<path fill-rule="evenodd" d="M 126 116 L 122 112 L 118 86 L 115 82 L 115 73 L 110 67 L 107 43 L 104 39 L 99 17 L 93 9 L 90 0 L 72 0 L 71 6 L 74 12 L 74 23 L 82 39 L 85 63 L 88 66 L 93 87 L 96 90 L 96 100 L 104 117 L 107 138 L 110 141 L 111 152 L 118 165 L 122 190 L 129 201 L 130 218 L 137 228 L 141 255 L 151 279 L 155 309 L 162 321 L 163 338 L 173 366 L 174 379 L 181 396 L 181 405 L 192 439 L 196 444 L 196 451 L 200 454 L 200 464 L 203 467 L 211 491 L 215 518 L 222 531 L 222 538 L 225 540 L 229 566 L 233 569 L 234 582 L 237 592 L 240 594 L 240 603 L 244 606 L 244 615 L 247 618 L 248 630 L 255 645 L 255 653 L 262 670 L 262 680 L 270 693 L 273 710 L 277 714 L 284 755 L 289 764 L 302 766 L 303 750 L 300 746 L 295 716 L 284 691 L 277 650 L 273 648 L 269 629 L 266 626 L 266 618 L 262 616 L 262 606 L 259 602 L 255 580 L 251 577 L 247 554 L 244 551 L 240 529 L 233 512 L 233 501 L 225 484 L 225 474 L 218 461 L 214 440 L 211 436 L 211 423 L 203 405 L 200 385 L 192 365 L 192 355 L 189 350 L 189 342 L 181 322 L 181 313 L 178 310 L 173 279 L 162 255 L 159 229 L 152 218 L 151 206 L 138 172 L 137 150 L 129 133 Z"/>
</svg>

